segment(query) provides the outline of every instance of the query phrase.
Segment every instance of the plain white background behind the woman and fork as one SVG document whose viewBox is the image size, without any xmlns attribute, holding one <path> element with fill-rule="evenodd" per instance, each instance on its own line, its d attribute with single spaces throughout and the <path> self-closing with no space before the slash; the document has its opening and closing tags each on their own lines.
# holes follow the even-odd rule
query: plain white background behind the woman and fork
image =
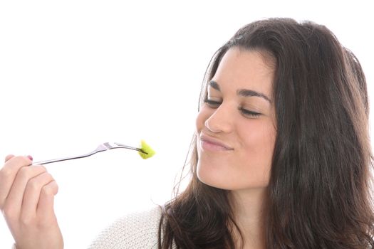
<svg viewBox="0 0 374 249">
<path fill-rule="evenodd" d="M 117 149 L 47 166 L 59 185 L 66 248 L 87 248 L 115 218 L 172 197 L 204 71 L 244 24 L 274 16 L 325 24 L 358 56 L 373 98 L 371 8 L 347 3 L 1 1 L 0 157 L 152 145 L 157 155 L 148 160 Z M 0 248 L 12 242 L 0 219 Z"/>
</svg>

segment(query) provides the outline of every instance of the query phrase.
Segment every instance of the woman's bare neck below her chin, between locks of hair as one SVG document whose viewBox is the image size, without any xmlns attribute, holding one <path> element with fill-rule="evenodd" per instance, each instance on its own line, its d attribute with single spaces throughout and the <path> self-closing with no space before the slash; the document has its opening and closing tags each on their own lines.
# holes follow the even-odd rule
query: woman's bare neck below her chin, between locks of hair
<svg viewBox="0 0 374 249">
<path fill-rule="evenodd" d="M 265 248 L 263 217 L 265 196 L 265 188 L 230 191 L 233 218 L 244 238 L 245 249 Z M 234 239 L 240 241 L 237 231 L 234 233 Z"/>
</svg>

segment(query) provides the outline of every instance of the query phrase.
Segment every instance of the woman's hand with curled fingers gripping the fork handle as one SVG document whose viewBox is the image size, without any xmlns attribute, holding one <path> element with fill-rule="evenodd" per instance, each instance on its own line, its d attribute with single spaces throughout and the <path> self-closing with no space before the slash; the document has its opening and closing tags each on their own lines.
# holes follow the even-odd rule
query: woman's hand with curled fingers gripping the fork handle
<svg viewBox="0 0 374 249">
<path fill-rule="evenodd" d="M 44 166 L 31 163 L 31 157 L 6 157 L 0 169 L 0 209 L 17 249 L 61 249 L 53 211 L 58 186 Z"/>
</svg>

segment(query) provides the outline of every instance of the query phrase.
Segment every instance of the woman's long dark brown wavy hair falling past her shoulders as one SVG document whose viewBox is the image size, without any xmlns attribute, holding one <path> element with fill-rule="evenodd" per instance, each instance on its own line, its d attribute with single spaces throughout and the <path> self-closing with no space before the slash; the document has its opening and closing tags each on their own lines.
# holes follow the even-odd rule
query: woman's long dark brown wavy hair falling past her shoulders
<svg viewBox="0 0 374 249">
<path fill-rule="evenodd" d="M 214 54 L 200 106 L 232 47 L 265 52 L 274 61 L 277 134 L 266 248 L 374 248 L 368 92 L 358 59 L 325 26 L 290 18 L 255 21 Z M 191 179 L 162 207 L 158 248 L 235 248 L 233 230 L 239 228 L 229 191 L 199 181 L 195 140 L 189 155 Z"/>
</svg>

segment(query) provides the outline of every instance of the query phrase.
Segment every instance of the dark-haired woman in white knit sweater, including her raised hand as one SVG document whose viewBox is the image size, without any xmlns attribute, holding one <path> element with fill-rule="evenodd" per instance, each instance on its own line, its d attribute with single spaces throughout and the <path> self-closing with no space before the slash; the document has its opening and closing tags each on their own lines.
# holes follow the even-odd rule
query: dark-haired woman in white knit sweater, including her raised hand
<svg viewBox="0 0 374 249">
<path fill-rule="evenodd" d="M 325 26 L 250 23 L 214 54 L 187 189 L 91 248 L 374 248 L 368 94 Z M 19 249 L 63 248 L 43 166 L 6 158 L 0 208 Z"/>
</svg>

